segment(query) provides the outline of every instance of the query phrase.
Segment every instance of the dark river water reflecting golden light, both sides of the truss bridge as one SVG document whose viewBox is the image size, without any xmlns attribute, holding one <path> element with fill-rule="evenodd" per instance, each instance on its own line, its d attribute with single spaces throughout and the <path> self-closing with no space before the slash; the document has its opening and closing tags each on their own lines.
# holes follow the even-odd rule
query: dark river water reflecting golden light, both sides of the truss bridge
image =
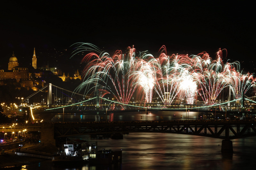
<svg viewBox="0 0 256 170">
<path fill-rule="evenodd" d="M 176 115 L 175 117 L 173 115 Z M 189 112 L 188 119 L 197 119 L 197 112 Z M 141 119 L 142 115 L 142 119 Z M 185 117 L 180 118 L 180 115 Z M 106 115 L 100 115 L 102 120 Z M 52 121 L 62 120 L 62 115 L 55 115 Z M 93 121 L 95 115 L 65 114 L 64 121 L 79 122 Z M 108 117 L 107 117 L 108 118 Z M 149 113 L 148 120 L 186 119 L 186 112 L 155 112 Z M 115 114 L 115 121 L 145 120 L 142 113 Z M 199 137 L 192 135 L 168 133 L 129 133 L 124 139 L 90 139 L 89 136 L 77 136 L 73 139 L 98 141 L 98 148 L 122 150 L 122 163 L 109 166 L 84 165 L 70 167 L 53 166 L 51 161 L 27 165 L 23 169 L 52 169 L 52 170 L 240 170 L 255 169 L 256 137 L 235 139 L 232 154 L 222 154 L 221 139 Z M 70 137 L 70 139 L 72 139 Z M 219 146 L 220 145 L 220 146 Z"/>
</svg>

